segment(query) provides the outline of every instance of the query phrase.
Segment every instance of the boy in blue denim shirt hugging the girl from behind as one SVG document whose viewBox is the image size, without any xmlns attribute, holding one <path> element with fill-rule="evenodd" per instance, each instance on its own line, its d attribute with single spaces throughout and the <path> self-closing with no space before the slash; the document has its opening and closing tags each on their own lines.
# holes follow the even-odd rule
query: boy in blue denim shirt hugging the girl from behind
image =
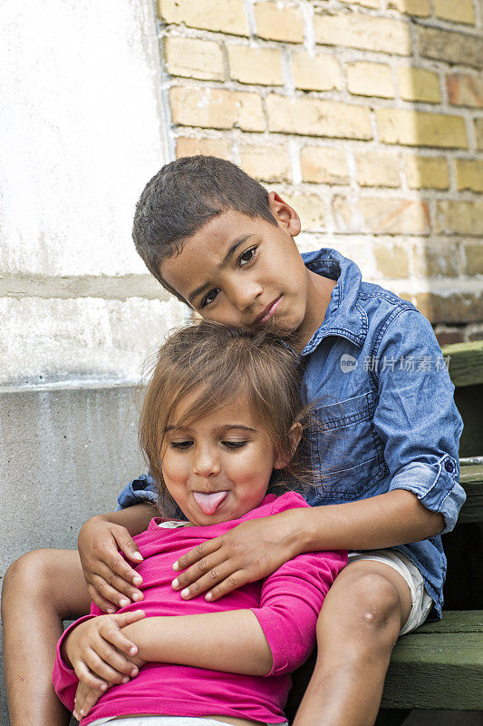
<svg viewBox="0 0 483 726">
<path fill-rule="evenodd" d="M 303 360 L 306 395 L 325 429 L 309 442 L 315 485 L 306 498 L 312 509 L 246 523 L 195 549 L 175 564 L 173 587 L 185 598 L 206 593 L 217 599 L 295 554 L 352 550 L 319 618 L 319 659 L 295 723 L 369 726 L 398 635 L 418 627 L 430 611 L 440 616 L 445 558 L 439 535 L 454 526 L 464 501 L 458 483 L 462 425 L 429 322 L 411 303 L 362 283 L 356 265 L 335 250 L 302 258 L 294 241 L 299 231 L 295 210 L 275 192 L 267 194 L 214 157 L 166 165 L 141 195 L 133 236 L 152 274 L 204 318 L 241 328 L 271 325 L 286 335 Z M 119 498 L 121 506 L 134 506 L 82 527 L 89 593 L 106 612 L 127 597 L 142 597 L 134 572 L 115 550 L 136 562 L 126 528 L 130 535 L 140 532 L 150 517 L 149 505 L 140 502 L 152 495 L 149 478 L 142 477 Z M 78 614 L 87 601 L 74 554 L 57 554 L 55 564 L 52 554 L 25 556 L 28 566 L 13 565 L 17 575 L 10 574 L 4 595 L 5 670 L 17 714 L 22 707 L 12 653 L 21 639 L 8 615 L 20 606 L 13 593 L 22 590 L 28 567 L 40 561 L 37 583 L 64 577 L 62 584 L 53 580 L 55 594 L 47 597 L 37 585 L 35 610 L 50 613 L 48 635 L 42 630 L 43 662 L 51 647 L 53 653 L 47 641 L 59 632 L 59 615 L 74 606 Z M 114 640 L 106 635 L 106 661 L 116 663 L 120 679 L 135 674 L 129 657 L 114 654 Z M 22 670 L 18 651 L 15 662 Z M 52 714 L 46 688 L 41 701 L 43 714 Z M 52 715 L 42 721 L 38 704 L 35 719 L 22 716 L 12 726 L 61 722 Z"/>
</svg>

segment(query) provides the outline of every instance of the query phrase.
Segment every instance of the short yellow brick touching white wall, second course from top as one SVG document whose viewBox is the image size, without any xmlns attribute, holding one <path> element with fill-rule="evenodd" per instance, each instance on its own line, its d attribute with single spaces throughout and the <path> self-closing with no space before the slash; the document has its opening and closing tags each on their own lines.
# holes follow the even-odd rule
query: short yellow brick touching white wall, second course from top
<svg viewBox="0 0 483 726">
<path fill-rule="evenodd" d="M 169 74 L 213 81 L 225 79 L 221 47 L 213 41 L 171 37 L 166 39 L 164 52 Z"/>
</svg>

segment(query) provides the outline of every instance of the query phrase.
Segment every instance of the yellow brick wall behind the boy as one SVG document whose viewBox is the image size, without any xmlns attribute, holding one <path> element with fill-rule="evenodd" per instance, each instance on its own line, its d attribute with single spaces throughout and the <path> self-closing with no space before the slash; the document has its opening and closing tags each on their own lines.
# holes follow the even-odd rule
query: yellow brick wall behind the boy
<svg viewBox="0 0 483 726">
<path fill-rule="evenodd" d="M 159 0 L 173 155 L 279 191 L 441 342 L 483 337 L 479 0 Z"/>
</svg>

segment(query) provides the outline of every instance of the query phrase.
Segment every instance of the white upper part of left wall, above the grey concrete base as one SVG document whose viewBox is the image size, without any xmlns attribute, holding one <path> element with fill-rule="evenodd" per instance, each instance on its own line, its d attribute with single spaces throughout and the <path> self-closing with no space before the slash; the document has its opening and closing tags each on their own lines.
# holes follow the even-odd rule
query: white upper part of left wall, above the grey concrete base
<svg viewBox="0 0 483 726">
<path fill-rule="evenodd" d="M 2 3 L 0 384 L 134 380 L 179 316 L 130 239 L 169 158 L 150 0 Z"/>
</svg>

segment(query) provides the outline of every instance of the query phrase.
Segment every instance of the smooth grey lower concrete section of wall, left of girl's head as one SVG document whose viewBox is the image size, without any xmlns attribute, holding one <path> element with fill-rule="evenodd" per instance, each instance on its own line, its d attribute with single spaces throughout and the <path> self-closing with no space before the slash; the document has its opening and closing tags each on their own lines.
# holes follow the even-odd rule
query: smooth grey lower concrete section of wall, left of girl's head
<svg viewBox="0 0 483 726">
<path fill-rule="evenodd" d="M 76 546 L 82 523 L 111 511 L 145 470 L 135 389 L 121 384 L 0 388 L 0 576 L 38 547 Z M 0 724 L 8 726 L 0 681 Z"/>
</svg>

